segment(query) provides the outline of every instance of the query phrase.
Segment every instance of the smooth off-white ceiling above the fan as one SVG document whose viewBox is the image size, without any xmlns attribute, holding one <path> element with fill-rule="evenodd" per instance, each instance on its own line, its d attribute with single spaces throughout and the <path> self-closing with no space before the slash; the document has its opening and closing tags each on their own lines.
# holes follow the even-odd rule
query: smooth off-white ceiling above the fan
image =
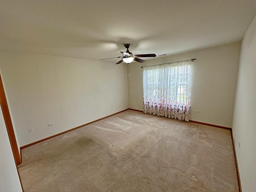
<svg viewBox="0 0 256 192">
<path fill-rule="evenodd" d="M 100 60 L 130 43 L 170 55 L 238 42 L 255 14 L 256 0 L 1 0 L 0 49 Z"/>
</svg>

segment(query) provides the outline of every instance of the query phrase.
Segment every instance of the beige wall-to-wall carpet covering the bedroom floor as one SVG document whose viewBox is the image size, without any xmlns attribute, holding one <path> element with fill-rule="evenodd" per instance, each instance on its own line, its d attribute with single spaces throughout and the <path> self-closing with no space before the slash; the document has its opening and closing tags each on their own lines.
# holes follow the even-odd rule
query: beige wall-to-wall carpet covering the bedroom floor
<svg viewBox="0 0 256 192">
<path fill-rule="evenodd" d="M 25 192 L 238 192 L 229 130 L 133 110 L 22 150 Z"/>
</svg>

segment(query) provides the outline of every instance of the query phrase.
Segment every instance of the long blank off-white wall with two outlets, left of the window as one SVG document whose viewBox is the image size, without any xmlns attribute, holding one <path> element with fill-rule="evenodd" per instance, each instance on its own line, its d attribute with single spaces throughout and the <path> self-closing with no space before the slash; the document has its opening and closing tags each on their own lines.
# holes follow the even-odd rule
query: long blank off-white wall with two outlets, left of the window
<svg viewBox="0 0 256 192">
<path fill-rule="evenodd" d="M 20 146 L 128 108 L 126 65 L 0 52 L 0 68 Z"/>
</svg>

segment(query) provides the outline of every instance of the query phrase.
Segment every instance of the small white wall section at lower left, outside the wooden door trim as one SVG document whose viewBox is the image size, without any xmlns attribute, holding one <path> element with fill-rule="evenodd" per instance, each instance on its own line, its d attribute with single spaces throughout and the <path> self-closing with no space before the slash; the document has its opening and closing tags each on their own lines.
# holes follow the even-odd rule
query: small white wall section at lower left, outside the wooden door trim
<svg viewBox="0 0 256 192">
<path fill-rule="evenodd" d="M 22 192 L 4 116 L 0 108 L 0 191 Z"/>
</svg>

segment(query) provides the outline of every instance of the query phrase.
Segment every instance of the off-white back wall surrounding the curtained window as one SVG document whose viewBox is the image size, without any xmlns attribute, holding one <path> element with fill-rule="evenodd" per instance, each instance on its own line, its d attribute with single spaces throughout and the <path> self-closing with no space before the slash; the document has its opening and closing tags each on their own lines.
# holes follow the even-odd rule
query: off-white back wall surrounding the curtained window
<svg viewBox="0 0 256 192">
<path fill-rule="evenodd" d="M 196 58 L 192 63 L 190 120 L 232 126 L 240 42 L 202 50 L 154 58 L 145 63 L 130 63 L 128 76 L 129 107 L 143 110 L 141 66 Z M 195 113 L 200 110 L 200 113 Z"/>
</svg>

